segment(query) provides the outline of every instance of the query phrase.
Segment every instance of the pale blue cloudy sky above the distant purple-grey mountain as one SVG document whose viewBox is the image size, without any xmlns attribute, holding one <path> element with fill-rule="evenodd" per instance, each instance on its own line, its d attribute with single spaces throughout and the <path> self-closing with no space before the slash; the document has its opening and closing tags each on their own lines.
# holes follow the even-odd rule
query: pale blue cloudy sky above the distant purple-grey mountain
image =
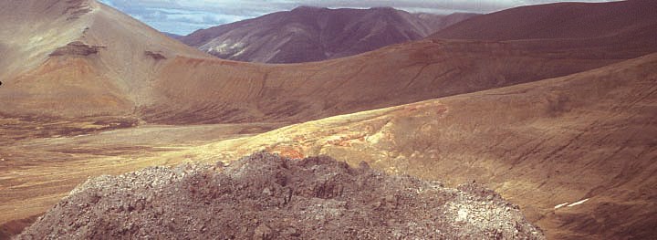
<svg viewBox="0 0 657 240">
<path fill-rule="evenodd" d="M 579 0 L 578 2 L 609 2 Z M 392 6 L 409 12 L 490 13 L 519 5 L 564 0 L 100 0 L 164 32 L 187 35 L 194 30 L 291 10 L 299 5 L 330 8 Z"/>
</svg>

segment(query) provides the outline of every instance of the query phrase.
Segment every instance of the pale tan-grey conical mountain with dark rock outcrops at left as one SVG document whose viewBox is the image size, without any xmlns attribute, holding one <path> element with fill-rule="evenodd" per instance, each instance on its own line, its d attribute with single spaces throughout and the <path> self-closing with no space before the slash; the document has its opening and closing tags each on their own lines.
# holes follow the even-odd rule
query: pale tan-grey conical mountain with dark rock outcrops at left
<svg viewBox="0 0 657 240">
<path fill-rule="evenodd" d="M 0 5 L 6 114 L 130 114 L 148 104 L 162 57 L 206 57 L 93 0 Z"/>
</svg>

